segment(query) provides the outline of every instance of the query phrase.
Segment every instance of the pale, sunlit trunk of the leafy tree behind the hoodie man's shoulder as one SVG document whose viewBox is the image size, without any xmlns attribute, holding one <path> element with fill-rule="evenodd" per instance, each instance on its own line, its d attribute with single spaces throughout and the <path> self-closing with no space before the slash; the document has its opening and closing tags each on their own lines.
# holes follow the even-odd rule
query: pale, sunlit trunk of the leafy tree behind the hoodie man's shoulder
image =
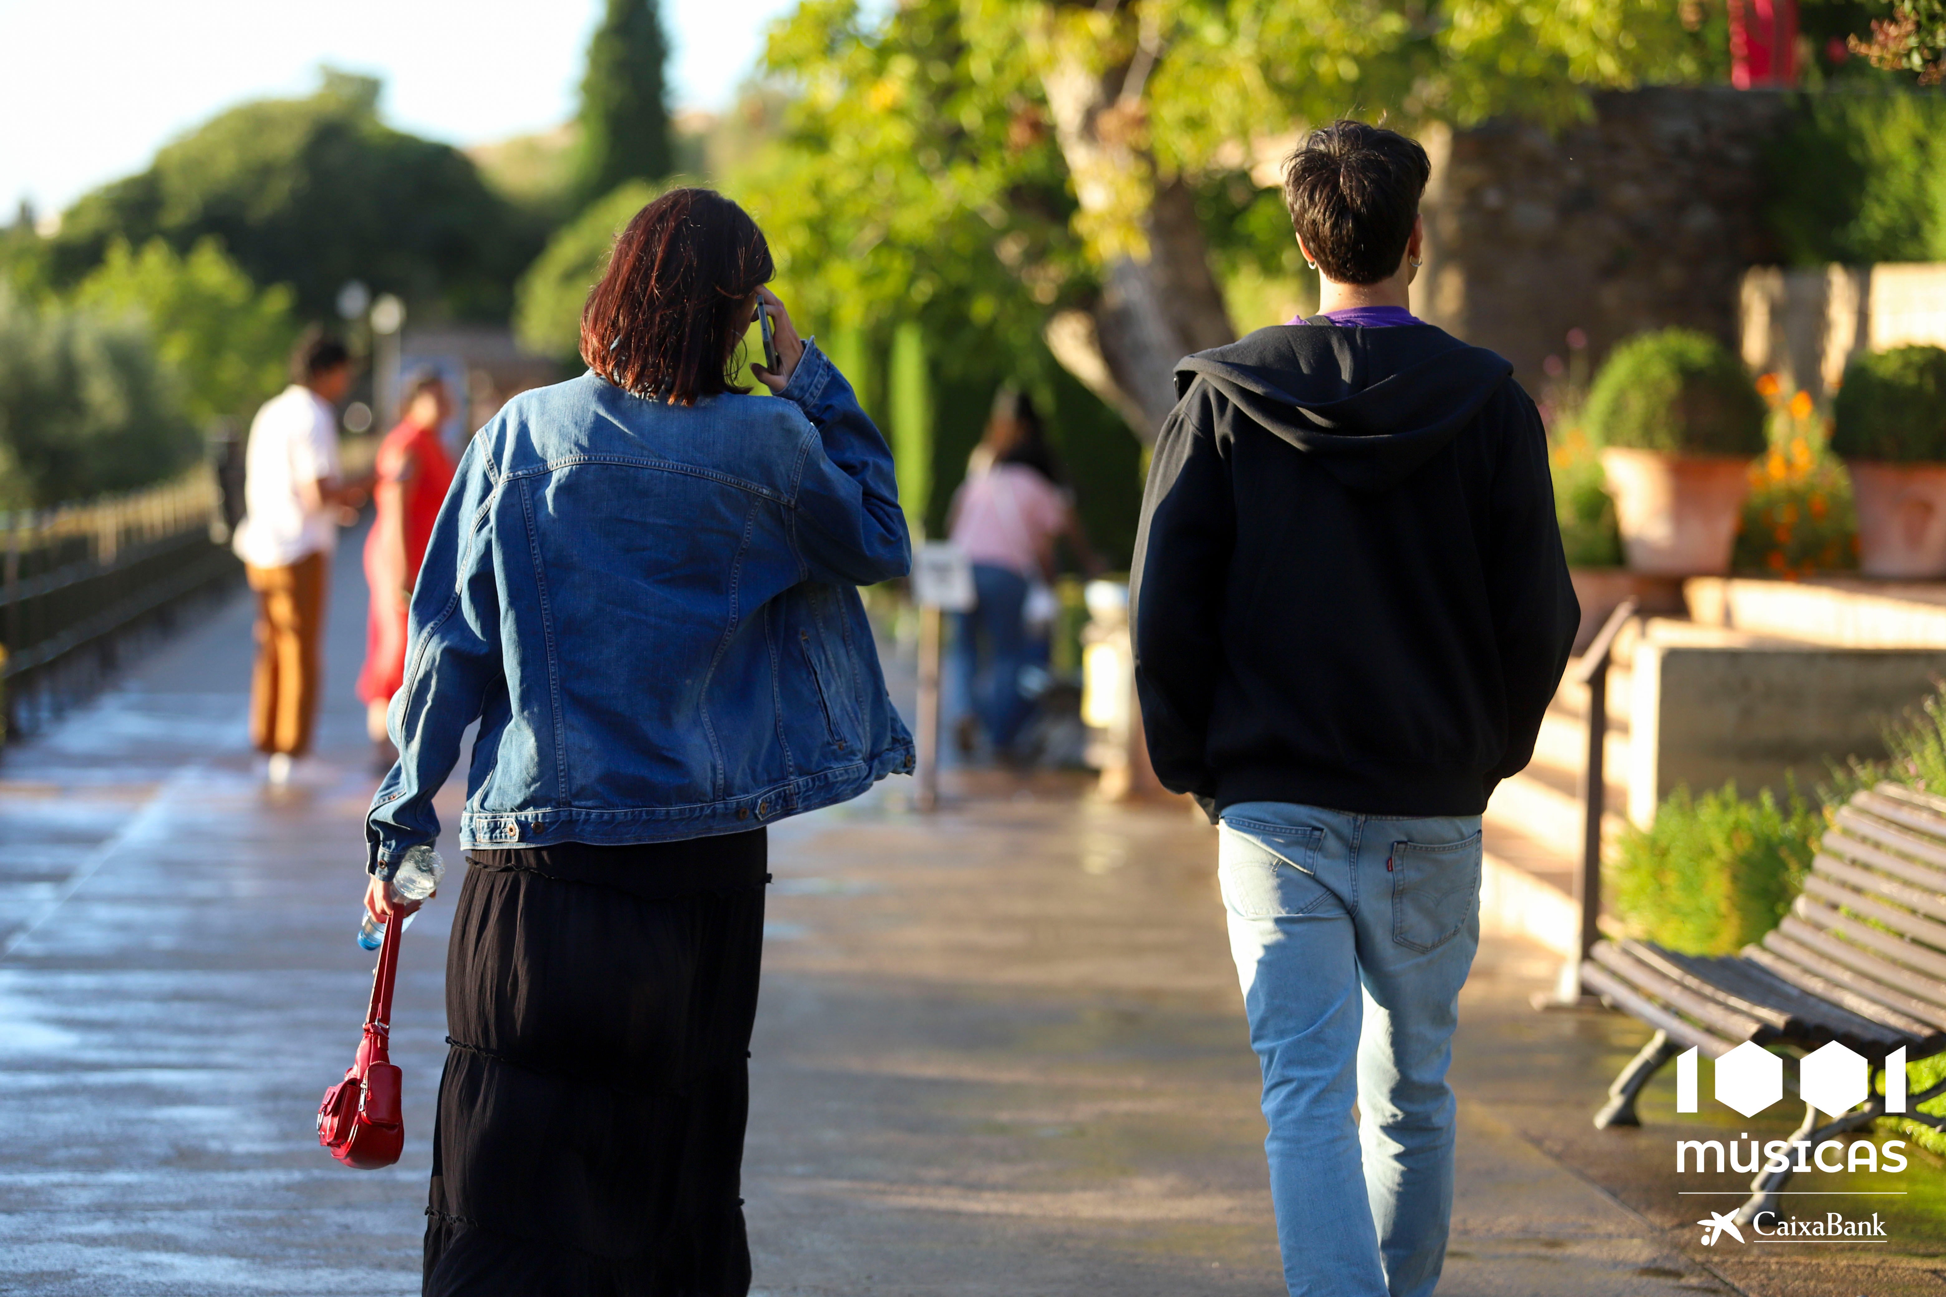
<svg viewBox="0 0 1946 1297">
<path fill-rule="evenodd" d="M 1123 97 L 1111 91 L 1121 82 Z M 1129 144 L 1140 101 L 1127 97 L 1127 68 L 1107 78 L 1078 60 L 1057 62 L 1043 78 L 1055 136 L 1074 177 L 1084 218 L 1113 220 L 1129 177 L 1154 163 Z M 1115 406 L 1144 445 L 1175 408 L 1175 362 L 1236 340 L 1222 290 L 1208 264 L 1195 196 L 1181 179 L 1152 185 L 1138 218 L 1146 257 L 1117 253 L 1101 274 L 1092 309 L 1061 311 L 1047 323 L 1047 346 L 1068 373 Z"/>
</svg>

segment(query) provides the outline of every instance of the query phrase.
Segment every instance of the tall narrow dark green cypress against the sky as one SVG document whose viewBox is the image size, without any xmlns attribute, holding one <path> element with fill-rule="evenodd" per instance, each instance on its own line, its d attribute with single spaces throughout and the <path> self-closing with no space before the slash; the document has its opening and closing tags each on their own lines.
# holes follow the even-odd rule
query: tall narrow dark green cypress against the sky
<svg viewBox="0 0 1946 1297">
<path fill-rule="evenodd" d="M 607 0 L 607 14 L 588 41 L 588 72 L 582 76 L 576 175 L 582 202 L 623 181 L 652 181 L 669 173 L 667 56 L 656 0 Z"/>
</svg>

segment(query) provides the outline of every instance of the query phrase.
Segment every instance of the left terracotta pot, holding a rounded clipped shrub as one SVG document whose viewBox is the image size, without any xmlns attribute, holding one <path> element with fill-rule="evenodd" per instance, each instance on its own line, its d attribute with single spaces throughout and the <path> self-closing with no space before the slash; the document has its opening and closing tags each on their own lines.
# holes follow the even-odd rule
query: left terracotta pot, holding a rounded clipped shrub
<svg viewBox="0 0 1946 1297">
<path fill-rule="evenodd" d="M 1749 461 L 1736 455 L 1602 451 L 1607 494 L 1631 572 L 1720 576 L 1749 494 Z"/>
</svg>

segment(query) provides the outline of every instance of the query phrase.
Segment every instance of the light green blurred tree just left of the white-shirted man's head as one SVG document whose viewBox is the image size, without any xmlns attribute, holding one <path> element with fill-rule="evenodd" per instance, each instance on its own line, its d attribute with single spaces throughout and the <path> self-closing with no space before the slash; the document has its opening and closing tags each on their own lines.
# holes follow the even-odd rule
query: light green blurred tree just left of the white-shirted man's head
<svg viewBox="0 0 1946 1297">
<path fill-rule="evenodd" d="M 200 426 L 216 418 L 247 422 L 288 381 L 298 336 L 290 288 L 259 290 L 214 237 L 200 239 L 187 257 L 162 239 L 150 239 L 140 253 L 117 239 L 72 301 L 93 315 L 146 325 L 158 358 L 181 383 L 185 412 Z"/>
</svg>

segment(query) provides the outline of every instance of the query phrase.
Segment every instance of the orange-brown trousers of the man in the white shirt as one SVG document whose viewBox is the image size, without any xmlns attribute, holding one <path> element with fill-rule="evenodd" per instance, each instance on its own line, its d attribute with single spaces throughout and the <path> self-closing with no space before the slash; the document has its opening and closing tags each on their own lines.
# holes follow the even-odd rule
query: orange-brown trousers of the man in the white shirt
<svg viewBox="0 0 1946 1297">
<path fill-rule="evenodd" d="M 259 753 L 304 756 L 311 751 L 317 694 L 323 686 L 323 554 L 288 568 L 247 568 L 257 591 L 257 671 L 249 686 L 249 741 Z"/>
</svg>

